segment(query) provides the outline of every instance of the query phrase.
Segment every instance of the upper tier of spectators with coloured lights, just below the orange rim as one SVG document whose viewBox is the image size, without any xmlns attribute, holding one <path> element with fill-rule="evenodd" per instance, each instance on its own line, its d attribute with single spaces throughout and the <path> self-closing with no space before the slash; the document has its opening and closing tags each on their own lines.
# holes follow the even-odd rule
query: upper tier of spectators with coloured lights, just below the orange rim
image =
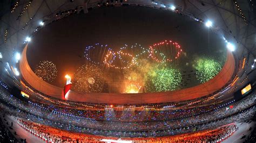
<svg viewBox="0 0 256 143">
<path fill-rule="evenodd" d="M 6 91 L 5 91 L 6 92 Z M 5 93 L 8 95 L 8 93 Z M 26 101 L 22 104 L 29 108 L 41 108 L 60 113 L 62 115 L 75 116 L 84 119 L 92 120 L 107 120 L 107 121 L 159 121 L 159 120 L 173 120 L 189 116 L 199 115 L 200 113 L 211 112 L 223 105 L 227 106 L 233 104 L 234 100 L 224 102 L 221 104 L 214 104 L 208 106 L 200 106 L 198 108 L 185 108 L 179 110 L 154 110 L 144 109 L 142 111 L 131 109 L 124 109 L 122 111 L 106 108 L 105 110 L 78 110 L 57 105 L 42 104 L 36 101 Z"/>
</svg>

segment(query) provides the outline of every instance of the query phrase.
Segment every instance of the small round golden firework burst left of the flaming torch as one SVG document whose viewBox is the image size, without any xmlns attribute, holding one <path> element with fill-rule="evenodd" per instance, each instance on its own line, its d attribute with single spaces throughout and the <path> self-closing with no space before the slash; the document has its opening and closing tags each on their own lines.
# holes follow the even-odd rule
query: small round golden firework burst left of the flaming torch
<svg viewBox="0 0 256 143">
<path fill-rule="evenodd" d="M 56 65 L 51 61 L 40 61 L 36 66 L 35 74 L 44 81 L 52 82 L 57 76 Z"/>
</svg>

